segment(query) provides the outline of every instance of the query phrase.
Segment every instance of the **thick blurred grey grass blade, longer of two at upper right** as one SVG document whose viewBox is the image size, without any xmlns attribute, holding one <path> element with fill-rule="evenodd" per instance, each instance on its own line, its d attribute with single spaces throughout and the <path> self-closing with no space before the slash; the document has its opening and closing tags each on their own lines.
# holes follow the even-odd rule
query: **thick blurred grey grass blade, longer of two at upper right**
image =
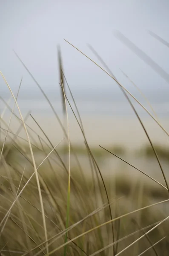
<svg viewBox="0 0 169 256">
<path fill-rule="evenodd" d="M 133 44 L 128 38 L 126 38 L 122 33 L 117 31 L 115 33 L 116 37 L 126 45 L 132 52 L 134 52 L 141 60 L 148 64 L 158 75 L 160 75 L 167 83 L 169 83 L 169 74 L 166 73 L 155 61 L 152 60 L 145 52 L 140 50 L 135 44 Z"/>
</svg>

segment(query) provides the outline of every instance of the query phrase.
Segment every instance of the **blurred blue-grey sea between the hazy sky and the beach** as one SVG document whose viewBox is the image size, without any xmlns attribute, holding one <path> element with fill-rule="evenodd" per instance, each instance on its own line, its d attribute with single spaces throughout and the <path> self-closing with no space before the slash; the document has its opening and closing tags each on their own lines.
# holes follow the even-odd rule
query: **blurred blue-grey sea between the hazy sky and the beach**
<svg viewBox="0 0 169 256">
<path fill-rule="evenodd" d="M 168 87 L 162 87 L 161 89 L 157 86 L 153 89 L 150 89 L 149 87 L 145 89 L 144 87 L 141 90 L 142 94 L 135 87 L 130 86 L 129 88 L 127 87 L 127 89 L 150 113 L 157 115 L 159 118 L 168 118 Z M 52 85 L 49 85 L 49 87 L 44 87 L 43 90 L 46 93 L 46 96 L 48 97 L 52 106 L 54 107 L 54 110 L 58 115 L 61 115 L 63 104 L 59 88 L 53 88 Z M 104 86 L 103 84 L 103 86 L 98 87 L 97 90 L 94 90 L 94 88 L 90 89 L 89 87 L 73 87 L 71 90 L 77 108 L 80 112 L 80 115 L 82 116 L 134 116 L 134 112 L 129 105 L 129 102 L 121 90 L 119 90 L 119 88 L 116 86 L 108 87 L 108 85 Z M 17 95 L 17 88 L 14 90 L 14 95 Z M 66 88 L 66 96 L 73 110 L 75 110 L 74 102 L 68 88 Z M 1 112 L 5 108 L 5 104 L 2 99 L 5 99 L 6 102 L 11 99 L 9 105 L 11 108 L 13 108 L 14 100 L 12 99 L 7 89 L 0 91 Z M 140 107 L 140 105 L 131 96 L 129 96 L 129 99 L 132 101 L 132 104 L 134 105 L 139 115 L 143 117 L 148 116 L 146 111 Z M 52 114 L 52 109 L 49 105 L 49 102 L 47 102 L 43 94 L 36 86 L 30 87 L 30 89 L 21 88 L 17 102 L 23 114 L 26 114 L 28 111 L 32 111 L 34 114 Z M 69 115 L 71 115 L 72 110 L 69 106 L 69 103 L 67 102 L 67 106 Z M 17 111 L 17 108 L 15 108 L 15 111 Z"/>
</svg>

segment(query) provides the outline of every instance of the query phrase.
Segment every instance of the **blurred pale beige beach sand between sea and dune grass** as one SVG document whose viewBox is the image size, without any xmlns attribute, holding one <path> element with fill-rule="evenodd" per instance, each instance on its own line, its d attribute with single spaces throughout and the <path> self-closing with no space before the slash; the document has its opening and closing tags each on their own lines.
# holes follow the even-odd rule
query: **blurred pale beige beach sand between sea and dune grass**
<svg viewBox="0 0 169 256">
<path fill-rule="evenodd" d="M 56 117 L 53 115 L 33 115 L 34 119 L 43 128 L 43 131 L 49 137 L 49 139 L 56 145 L 65 135 L 63 130 L 57 122 Z M 149 144 L 145 132 L 143 131 L 140 122 L 136 117 L 119 117 L 119 116 L 81 116 L 83 127 L 86 135 L 86 139 L 91 146 L 114 146 L 120 145 L 126 149 L 139 149 L 145 144 Z M 5 116 L 6 123 L 9 122 L 9 116 Z M 62 118 L 63 120 L 63 118 Z M 151 118 L 143 118 L 143 124 L 152 140 L 155 144 L 169 145 L 167 135 L 162 131 L 159 125 Z M 169 131 L 169 120 L 160 120 L 166 131 Z M 29 116 L 26 121 L 37 134 L 45 139 L 45 136 L 40 131 L 40 128 Z M 1 124 L 3 128 L 5 125 Z M 20 126 L 20 122 L 15 117 L 12 118 L 10 128 L 13 132 L 16 132 Z M 67 129 L 67 127 L 66 127 Z M 29 134 L 33 135 L 38 140 L 37 135 L 34 134 L 28 128 Z M 74 144 L 84 143 L 84 138 L 77 121 L 73 116 L 69 117 L 69 131 L 70 139 Z M 10 133 L 9 133 L 10 134 Z M 11 135 L 11 134 L 10 134 Z M 21 137 L 26 138 L 24 129 L 20 131 Z M 46 140 L 46 139 L 45 139 Z"/>
</svg>

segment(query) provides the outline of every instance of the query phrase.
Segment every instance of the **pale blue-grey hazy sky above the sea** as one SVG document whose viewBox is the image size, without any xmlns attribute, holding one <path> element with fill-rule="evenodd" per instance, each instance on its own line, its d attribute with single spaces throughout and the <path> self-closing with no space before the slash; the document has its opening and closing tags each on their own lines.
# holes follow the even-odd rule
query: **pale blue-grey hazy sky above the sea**
<svg viewBox="0 0 169 256">
<path fill-rule="evenodd" d="M 60 44 L 64 72 L 73 92 L 116 91 L 115 82 L 63 41 L 65 38 L 97 61 L 87 46 L 91 44 L 124 86 L 132 87 L 120 69 L 144 92 L 169 93 L 169 84 L 114 35 L 115 30 L 122 32 L 169 73 L 169 48 L 147 33 L 151 30 L 169 42 L 168 28 L 169 0 L 0 0 L 0 70 L 15 93 L 21 76 L 22 93 L 38 92 L 14 49 L 50 94 L 59 89 L 57 44 Z M 0 78 L 0 95 L 5 91 L 6 85 Z"/>
</svg>

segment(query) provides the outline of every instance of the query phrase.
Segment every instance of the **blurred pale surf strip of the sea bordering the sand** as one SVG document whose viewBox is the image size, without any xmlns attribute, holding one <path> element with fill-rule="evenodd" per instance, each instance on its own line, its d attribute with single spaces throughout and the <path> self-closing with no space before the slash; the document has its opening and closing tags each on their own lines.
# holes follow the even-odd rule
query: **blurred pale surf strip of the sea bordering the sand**
<svg viewBox="0 0 169 256">
<path fill-rule="evenodd" d="M 9 99 L 6 99 L 6 102 L 8 102 Z M 50 101 L 52 106 L 54 107 L 54 110 L 57 112 L 57 114 L 62 114 L 63 107 L 62 102 L 60 99 L 55 99 Z M 106 116 L 133 116 L 134 112 L 129 104 L 129 102 L 124 99 L 123 101 L 113 101 L 111 99 L 78 99 L 76 97 L 75 99 L 77 108 L 80 112 L 80 114 L 83 115 L 89 115 L 89 116 L 95 116 L 95 115 L 106 115 Z M 140 101 L 141 104 L 153 115 L 157 115 L 160 117 L 169 117 L 169 101 L 164 102 L 150 102 L 147 103 L 145 100 Z M 18 99 L 17 103 L 19 105 L 19 108 L 22 113 L 26 113 L 28 111 L 32 111 L 32 113 L 35 114 L 52 114 L 52 108 L 50 107 L 49 103 L 46 101 L 46 99 Z M 69 103 L 73 110 L 75 110 L 74 102 L 72 99 L 69 100 Z M 69 103 L 67 102 L 67 108 L 68 112 L 71 115 L 72 110 L 69 106 Z M 132 103 L 141 116 L 148 116 L 146 111 L 132 99 Z M 3 112 L 6 109 L 6 104 L 1 101 L 1 112 Z M 11 100 L 9 103 L 10 107 L 13 108 L 14 101 Z M 17 107 L 15 107 L 15 111 L 17 111 Z"/>
</svg>

